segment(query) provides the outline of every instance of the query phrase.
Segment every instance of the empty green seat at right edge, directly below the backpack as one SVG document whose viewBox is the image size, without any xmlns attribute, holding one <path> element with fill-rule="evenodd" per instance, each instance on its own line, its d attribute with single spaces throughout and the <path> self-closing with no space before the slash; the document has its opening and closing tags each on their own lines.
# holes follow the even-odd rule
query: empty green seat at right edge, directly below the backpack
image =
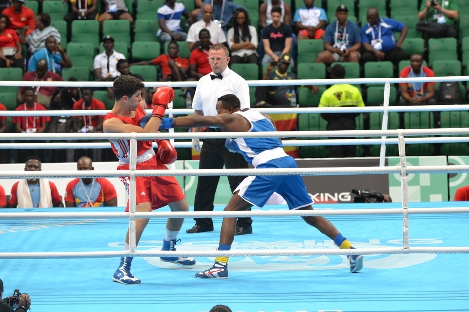
<svg viewBox="0 0 469 312">
<path fill-rule="evenodd" d="M 441 128 L 465 128 L 469 125 L 468 111 L 443 111 L 440 112 Z M 461 135 L 442 136 L 442 137 L 460 137 Z M 468 142 L 442 143 L 441 153 L 443 155 L 468 155 Z"/>
</svg>

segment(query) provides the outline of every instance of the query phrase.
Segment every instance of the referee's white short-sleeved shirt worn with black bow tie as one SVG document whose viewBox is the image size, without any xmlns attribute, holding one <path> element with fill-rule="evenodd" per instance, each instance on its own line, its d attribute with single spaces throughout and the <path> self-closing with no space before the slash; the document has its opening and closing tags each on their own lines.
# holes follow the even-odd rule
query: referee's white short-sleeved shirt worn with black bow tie
<svg viewBox="0 0 469 312">
<path fill-rule="evenodd" d="M 200 78 L 195 90 L 192 108 L 203 111 L 204 116 L 215 116 L 216 102 L 225 94 L 234 94 L 241 102 L 241 110 L 250 108 L 249 87 L 244 78 L 236 74 L 228 67 L 221 73 L 223 79 L 213 79 L 213 72 Z"/>
</svg>

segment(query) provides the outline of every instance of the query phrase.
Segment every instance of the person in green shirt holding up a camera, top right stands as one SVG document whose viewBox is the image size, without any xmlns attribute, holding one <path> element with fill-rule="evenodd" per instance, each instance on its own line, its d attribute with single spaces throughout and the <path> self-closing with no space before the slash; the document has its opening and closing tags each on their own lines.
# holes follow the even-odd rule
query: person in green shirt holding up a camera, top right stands
<svg viewBox="0 0 469 312">
<path fill-rule="evenodd" d="M 425 42 L 432 37 L 458 38 L 455 25 L 459 17 L 457 0 L 423 0 L 418 17 L 419 20 L 429 23 L 426 25 L 427 31 L 422 31 Z M 418 25 L 420 26 L 421 23 Z M 419 27 L 417 29 L 419 30 Z"/>
</svg>

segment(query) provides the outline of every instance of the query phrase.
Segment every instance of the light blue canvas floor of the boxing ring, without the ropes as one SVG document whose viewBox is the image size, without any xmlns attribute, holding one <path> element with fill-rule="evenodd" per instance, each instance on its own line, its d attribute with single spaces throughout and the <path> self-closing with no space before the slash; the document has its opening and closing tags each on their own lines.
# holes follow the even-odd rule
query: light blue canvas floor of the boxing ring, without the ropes
<svg viewBox="0 0 469 312">
<path fill-rule="evenodd" d="M 467 207 L 460 203 L 410 203 L 410 207 Z M 316 205 L 316 209 L 397 208 L 400 203 Z M 192 208 L 192 207 L 191 207 Z M 122 208 L 105 208 L 123 211 Z M 166 210 L 168 208 L 163 208 Z M 215 210 L 222 210 L 216 207 Z M 269 206 L 263 209 L 286 209 Z M 5 220 L 0 210 L 2 252 L 76 252 L 122 250 L 125 219 Z M 51 212 L 52 210 L 36 209 Z M 54 212 L 79 209 L 54 208 Z M 89 212 L 103 211 L 90 208 Z M 358 248 L 402 245 L 402 215 L 328 216 Z M 187 234 L 186 219 L 178 250 L 215 250 L 215 230 Z M 468 246 L 469 214 L 409 215 L 410 246 Z M 165 219 L 151 219 L 137 249 L 160 250 Z M 233 249 L 337 248 L 299 217 L 256 217 L 253 234 L 236 236 Z M 202 280 L 196 272 L 213 258 L 196 258 L 182 268 L 159 258 L 136 257 L 132 273 L 140 285 L 112 281 L 118 258 L 0 259 L 3 296 L 27 292 L 32 312 L 208 312 L 217 304 L 233 312 L 391 312 L 469 311 L 468 254 L 366 255 L 364 267 L 350 273 L 345 256 L 230 258 L 229 278 Z"/>
</svg>

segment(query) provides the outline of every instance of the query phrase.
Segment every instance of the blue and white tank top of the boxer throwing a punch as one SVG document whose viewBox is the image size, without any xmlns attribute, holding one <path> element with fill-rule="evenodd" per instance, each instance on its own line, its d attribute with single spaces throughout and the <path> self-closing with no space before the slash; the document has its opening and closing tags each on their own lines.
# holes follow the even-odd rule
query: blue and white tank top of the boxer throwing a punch
<svg viewBox="0 0 469 312">
<path fill-rule="evenodd" d="M 249 132 L 276 131 L 270 120 L 260 112 L 249 110 L 233 114 L 239 114 L 251 123 Z M 228 138 L 226 139 L 225 146 L 230 151 L 241 153 L 244 159 L 255 167 L 269 160 L 287 156 L 283 150 L 283 144 L 277 137 Z"/>
</svg>

